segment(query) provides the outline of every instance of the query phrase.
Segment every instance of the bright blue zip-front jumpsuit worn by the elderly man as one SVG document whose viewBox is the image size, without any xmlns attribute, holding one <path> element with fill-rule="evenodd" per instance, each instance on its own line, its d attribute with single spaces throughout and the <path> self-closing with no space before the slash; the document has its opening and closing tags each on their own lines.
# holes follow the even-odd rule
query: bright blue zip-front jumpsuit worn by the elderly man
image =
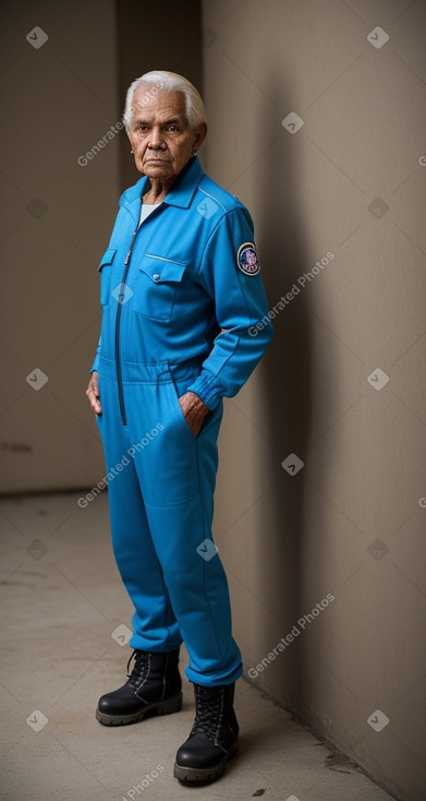
<svg viewBox="0 0 426 801">
<path fill-rule="evenodd" d="M 112 547 L 132 599 L 132 648 L 190 656 L 187 679 L 234 682 L 227 577 L 212 543 L 222 397 L 244 384 L 270 339 L 247 210 L 191 158 L 139 226 L 143 177 L 120 199 L 98 270 L 102 324 L 96 415 Z M 251 327 L 252 326 L 252 327 Z M 251 328 L 252 334 L 248 333 Z M 194 437 L 178 398 L 209 413 Z"/>
</svg>

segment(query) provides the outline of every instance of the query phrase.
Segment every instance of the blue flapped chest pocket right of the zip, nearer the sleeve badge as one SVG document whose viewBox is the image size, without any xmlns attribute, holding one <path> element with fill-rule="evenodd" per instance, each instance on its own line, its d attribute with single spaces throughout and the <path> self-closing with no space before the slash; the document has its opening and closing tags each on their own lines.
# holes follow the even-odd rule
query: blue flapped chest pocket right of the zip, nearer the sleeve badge
<svg viewBox="0 0 426 801">
<path fill-rule="evenodd" d="M 134 309 L 150 320 L 168 322 L 186 264 L 146 253 L 138 265 Z"/>
</svg>

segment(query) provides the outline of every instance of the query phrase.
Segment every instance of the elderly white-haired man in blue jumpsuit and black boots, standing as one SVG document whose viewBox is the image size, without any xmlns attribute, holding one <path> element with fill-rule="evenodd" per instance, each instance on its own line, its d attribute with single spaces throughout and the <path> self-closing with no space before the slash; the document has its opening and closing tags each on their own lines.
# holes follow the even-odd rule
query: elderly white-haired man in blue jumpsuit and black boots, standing
<svg viewBox="0 0 426 801">
<path fill-rule="evenodd" d="M 138 182 L 120 199 L 101 259 L 102 326 L 87 388 L 102 438 L 112 546 L 133 601 L 134 666 L 102 695 L 107 726 L 181 708 L 188 653 L 196 716 L 174 776 L 217 779 L 235 754 L 241 654 L 211 519 L 222 397 L 247 380 L 272 338 L 248 328 L 268 307 L 240 201 L 208 178 L 197 151 L 203 100 L 186 79 L 148 72 L 124 121 Z M 125 458 L 123 458 L 125 457 Z"/>
</svg>

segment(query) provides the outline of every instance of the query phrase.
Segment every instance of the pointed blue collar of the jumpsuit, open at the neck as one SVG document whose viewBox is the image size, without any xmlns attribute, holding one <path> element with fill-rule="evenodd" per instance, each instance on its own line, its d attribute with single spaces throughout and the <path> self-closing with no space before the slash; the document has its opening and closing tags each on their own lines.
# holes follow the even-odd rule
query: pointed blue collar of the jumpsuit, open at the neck
<svg viewBox="0 0 426 801">
<path fill-rule="evenodd" d="M 170 206 L 188 208 L 203 176 L 203 167 L 199 163 L 198 156 L 190 158 L 188 163 L 184 166 L 170 192 L 166 195 L 162 202 Z M 148 177 L 143 176 L 137 183 L 123 192 L 120 198 L 120 206 L 124 206 L 135 220 L 139 219 L 142 204 L 141 198 L 145 194 L 145 191 L 148 188 Z"/>
</svg>

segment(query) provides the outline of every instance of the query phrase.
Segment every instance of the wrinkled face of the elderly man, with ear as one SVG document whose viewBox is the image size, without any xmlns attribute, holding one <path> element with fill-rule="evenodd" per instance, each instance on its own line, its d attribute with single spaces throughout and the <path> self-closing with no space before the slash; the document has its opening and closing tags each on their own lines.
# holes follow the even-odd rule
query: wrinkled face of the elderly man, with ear
<svg viewBox="0 0 426 801">
<path fill-rule="evenodd" d="M 133 96 L 135 110 L 127 135 L 139 172 L 163 181 L 180 174 L 207 127 L 202 123 L 196 131 L 190 130 L 181 92 L 160 91 L 150 97 L 147 88 L 139 86 Z"/>
</svg>

